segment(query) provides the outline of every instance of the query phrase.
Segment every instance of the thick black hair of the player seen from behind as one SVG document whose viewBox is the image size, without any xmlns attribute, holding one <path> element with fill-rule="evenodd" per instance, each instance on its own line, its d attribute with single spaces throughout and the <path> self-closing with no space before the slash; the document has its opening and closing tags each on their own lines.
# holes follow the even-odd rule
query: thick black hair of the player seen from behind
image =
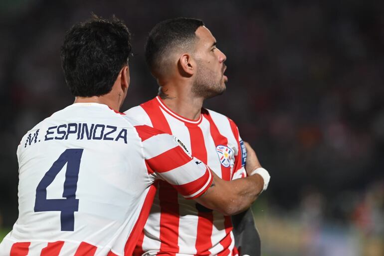
<svg viewBox="0 0 384 256">
<path fill-rule="evenodd" d="M 61 46 L 64 77 L 74 96 L 91 97 L 109 93 L 131 54 L 131 33 L 113 16 L 95 14 L 72 26 Z"/>
</svg>

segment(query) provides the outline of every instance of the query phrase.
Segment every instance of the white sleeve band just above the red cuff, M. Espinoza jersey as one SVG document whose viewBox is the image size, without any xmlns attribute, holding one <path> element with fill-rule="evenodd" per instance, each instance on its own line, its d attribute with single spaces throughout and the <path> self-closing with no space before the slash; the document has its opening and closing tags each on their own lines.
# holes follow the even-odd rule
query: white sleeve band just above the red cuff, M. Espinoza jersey
<svg viewBox="0 0 384 256">
<path fill-rule="evenodd" d="M 207 170 L 207 167 L 203 163 L 196 165 L 195 162 L 200 161 L 197 158 L 193 158 L 185 165 L 168 172 L 158 173 L 158 175 L 172 185 L 184 185 L 190 183 L 200 179 Z"/>
</svg>

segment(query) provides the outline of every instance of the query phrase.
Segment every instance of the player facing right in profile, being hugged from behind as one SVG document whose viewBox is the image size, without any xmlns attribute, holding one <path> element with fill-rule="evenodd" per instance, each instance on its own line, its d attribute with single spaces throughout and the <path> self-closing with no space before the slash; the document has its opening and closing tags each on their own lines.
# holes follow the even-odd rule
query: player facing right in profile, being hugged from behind
<svg viewBox="0 0 384 256">
<path fill-rule="evenodd" d="M 159 96 L 125 113 L 143 125 L 178 136 L 218 177 L 233 181 L 246 176 L 247 153 L 237 126 L 226 116 L 202 108 L 205 99 L 225 90 L 225 59 L 201 20 L 175 18 L 158 23 L 146 43 L 146 61 L 160 85 Z M 265 182 L 269 180 L 264 169 L 258 171 Z M 234 191 L 221 197 L 231 199 Z M 238 213 L 237 209 L 224 213 L 211 209 L 216 210 L 185 200 L 169 184 L 159 182 L 134 255 L 236 255 L 228 215 Z M 247 217 L 253 224 L 252 216 Z M 249 228 L 253 232 L 248 241 L 255 244 L 258 234 L 253 225 Z M 252 256 L 260 248 L 254 251 Z"/>
</svg>

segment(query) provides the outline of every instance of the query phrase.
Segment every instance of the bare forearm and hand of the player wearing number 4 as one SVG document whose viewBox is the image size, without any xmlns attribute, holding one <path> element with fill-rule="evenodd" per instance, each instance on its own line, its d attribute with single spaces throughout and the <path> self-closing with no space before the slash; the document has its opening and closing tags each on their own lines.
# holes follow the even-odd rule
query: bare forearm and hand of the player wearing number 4
<svg viewBox="0 0 384 256">
<path fill-rule="evenodd" d="M 245 146 L 247 149 L 245 169 L 250 175 L 261 165 L 249 144 L 245 143 Z M 245 211 L 263 191 L 264 179 L 259 174 L 232 181 L 224 181 L 213 172 L 212 175 L 211 187 L 195 200 L 206 208 L 216 210 L 224 215 L 234 215 Z"/>
</svg>

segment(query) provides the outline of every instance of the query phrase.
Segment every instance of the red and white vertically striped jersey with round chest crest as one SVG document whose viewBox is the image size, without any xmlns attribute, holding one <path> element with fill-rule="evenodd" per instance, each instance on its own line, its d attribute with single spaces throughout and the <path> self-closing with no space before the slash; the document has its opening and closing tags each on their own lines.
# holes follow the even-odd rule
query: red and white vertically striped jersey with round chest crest
<svg viewBox="0 0 384 256">
<path fill-rule="evenodd" d="M 143 125 L 176 135 L 220 178 L 231 180 L 246 175 L 244 145 L 236 125 L 224 115 L 202 109 L 197 120 L 190 120 L 170 110 L 160 97 L 125 114 Z M 159 182 L 134 255 L 232 256 L 236 249 L 231 231 L 229 216 L 185 200 L 174 188 Z"/>
</svg>

